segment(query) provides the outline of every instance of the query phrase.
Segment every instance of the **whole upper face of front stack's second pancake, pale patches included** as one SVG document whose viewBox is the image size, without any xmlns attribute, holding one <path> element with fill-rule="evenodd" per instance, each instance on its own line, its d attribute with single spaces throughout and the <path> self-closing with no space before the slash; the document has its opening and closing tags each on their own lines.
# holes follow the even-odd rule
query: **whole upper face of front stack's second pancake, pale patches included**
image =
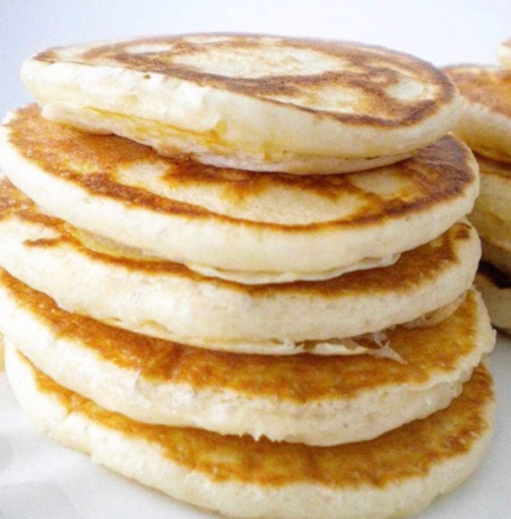
<svg viewBox="0 0 511 519">
<path fill-rule="evenodd" d="M 278 232 L 349 229 L 428 212 L 462 198 L 476 180 L 469 150 L 453 137 L 367 173 L 292 176 L 161 158 L 121 137 L 87 135 L 47 121 L 35 105 L 19 110 L 7 126 L 10 143 L 27 160 L 90 195 Z M 151 164 L 151 175 L 144 164 Z"/>
</svg>

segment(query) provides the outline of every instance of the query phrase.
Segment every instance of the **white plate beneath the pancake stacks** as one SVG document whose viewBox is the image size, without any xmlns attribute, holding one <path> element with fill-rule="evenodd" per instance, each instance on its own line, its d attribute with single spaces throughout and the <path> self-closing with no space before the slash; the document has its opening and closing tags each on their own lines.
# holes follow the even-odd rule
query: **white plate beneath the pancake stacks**
<svg viewBox="0 0 511 519">
<path fill-rule="evenodd" d="M 510 339 L 499 337 L 491 367 L 498 415 L 489 452 L 466 484 L 436 500 L 420 519 L 511 517 Z M 0 374 L 0 519 L 212 517 L 94 465 L 37 432 Z"/>
</svg>

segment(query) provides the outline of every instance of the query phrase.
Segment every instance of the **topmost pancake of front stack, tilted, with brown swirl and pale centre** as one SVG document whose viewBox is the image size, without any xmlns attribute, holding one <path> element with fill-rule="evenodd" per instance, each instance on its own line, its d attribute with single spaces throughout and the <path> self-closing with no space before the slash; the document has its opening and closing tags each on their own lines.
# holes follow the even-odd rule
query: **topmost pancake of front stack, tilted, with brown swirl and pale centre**
<svg viewBox="0 0 511 519">
<path fill-rule="evenodd" d="M 455 124 L 458 92 L 383 47 L 182 35 L 48 49 L 22 67 L 44 115 L 162 155 L 290 173 L 402 160 Z"/>
</svg>

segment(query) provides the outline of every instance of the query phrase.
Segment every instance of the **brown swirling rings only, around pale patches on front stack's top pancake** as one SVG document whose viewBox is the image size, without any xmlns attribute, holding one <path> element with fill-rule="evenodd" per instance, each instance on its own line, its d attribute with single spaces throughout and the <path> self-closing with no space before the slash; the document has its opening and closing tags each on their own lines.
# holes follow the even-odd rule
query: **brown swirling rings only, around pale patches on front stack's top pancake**
<svg viewBox="0 0 511 519">
<path fill-rule="evenodd" d="M 212 34 L 216 36 L 229 36 L 235 40 L 228 42 L 208 43 L 215 49 L 256 49 L 262 46 L 261 38 L 265 35 L 247 34 Z M 223 90 L 230 90 L 237 94 L 256 96 L 276 105 L 293 105 L 295 109 L 321 114 L 344 124 L 375 126 L 378 128 L 396 128 L 399 126 L 412 126 L 426 117 L 433 116 L 443 105 L 450 103 L 456 89 L 449 78 L 429 62 L 419 60 L 414 56 L 396 51 L 389 51 L 380 46 L 369 46 L 356 42 L 338 42 L 335 40 L 310 40 L 290 37 L 279 37 L 276 46 L 281 46 L 285 53 L 286 48 L 308 49 L 342 58 L 352 68 L 353 72 L 343 70 L 340 72 L 327 71 L 322 74 L 310 76 L 263 76 L 259 78 L 233 78 L 218 74 L 201 72 L 193 67 L 171 62 L 172 56 L 190 55 L 203 52 L 203 44 L 186 41 L 185 37 L 197 35 L 175 35 L 162 37 L 147 37 L 139 40 L 114 42 L 95 46 L 82 56 L 69 61 L 85 65 L 108 65 L 125 69 L 144 72 L 149 77 L 151 74 L 162 74 L 182 80 L 192 81 L 201 86 L 212 86 Z M 271 37 L 271 36 L 270 36 Z M 126 47 L 134 44 L 162 44 L 172 42 L 175 49 L 171 53 L 140 53 L 131 54 Z M 33 59 L 43 62 L 59 62 L 60 48 L 48 49 L 34 56 Z M 376 53 L 378 55 L 376 56 Z M 67 60 L 65 60 L 67 61 Z M 385 88 L 396 84 L 399 74 L 396 68 L 405 74 L 414 76 L 417 80 L 434 86 L 436 89 L 433 99 L 422 101 L 396 100 L 385 92 Z M 271 99 L 271 96 L 285 95 L 299 96 L 303 87 L 312 89 L 325 85 L 349 87 L 358 90 L 364 96 L 365 106 L 378 108 L 384 111 L 383 117 L 374 117 L 367 114 L 348 114 L 326 110 L 313 110 L 302 105 Z"/>
</svg>

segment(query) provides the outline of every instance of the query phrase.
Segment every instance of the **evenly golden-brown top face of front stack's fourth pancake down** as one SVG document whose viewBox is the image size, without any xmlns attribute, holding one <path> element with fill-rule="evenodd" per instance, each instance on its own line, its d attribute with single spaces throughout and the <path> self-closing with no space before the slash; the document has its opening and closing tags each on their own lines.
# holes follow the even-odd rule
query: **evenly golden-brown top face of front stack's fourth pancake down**
<svg viewBox="0 0 511 519">
<path fill-rule="evenodd" d="M 449 373 L 478 346 L 478 306 L 474 293 L 448 319 L 435 326 L 387 333 L 405 364 L 371 355 L 248 355 L 216 352 L 120 330 L 60 309 L 0 269 L 0 284 L 16 305 L 35 316 L 59 339 L 76 341 L 101 361 L 140 373 L 149 381 L 190 384 L 196 390 L 233 390 L 249 398 L 313 402 L 353 398 L 384 386 L 422 384 Z M 370 341 L 366 346 L 376 347 Z"/>
</svg>

